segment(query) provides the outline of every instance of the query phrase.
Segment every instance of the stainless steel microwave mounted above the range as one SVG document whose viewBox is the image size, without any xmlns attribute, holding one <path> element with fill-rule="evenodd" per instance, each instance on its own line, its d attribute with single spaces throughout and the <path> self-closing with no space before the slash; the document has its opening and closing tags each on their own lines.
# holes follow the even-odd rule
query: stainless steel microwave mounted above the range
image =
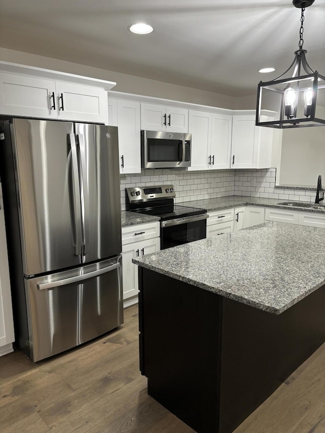
<svg viewBox="0 0 325 433">
<path fill-rule="evenodd" d="M 191 134 L 141 131 L 143 169 L 171 169 L 191 165 Z"/>
</svg>

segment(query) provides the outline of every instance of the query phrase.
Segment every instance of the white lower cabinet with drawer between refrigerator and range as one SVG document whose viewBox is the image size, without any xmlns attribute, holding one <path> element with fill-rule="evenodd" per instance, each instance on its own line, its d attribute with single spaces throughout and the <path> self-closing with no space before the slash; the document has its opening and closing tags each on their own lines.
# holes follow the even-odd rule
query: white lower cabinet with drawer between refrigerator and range
<svg viewBox="0 0 325 433">
<path fill-rule="evenodd" d="M 135 257 L 160 250 L 159 222 L 122 227 L 123 299 L 136 297 L 138 267 L 132 263 Z M 135 302 L 138 299 L 135 298 Z"/>
</svg>

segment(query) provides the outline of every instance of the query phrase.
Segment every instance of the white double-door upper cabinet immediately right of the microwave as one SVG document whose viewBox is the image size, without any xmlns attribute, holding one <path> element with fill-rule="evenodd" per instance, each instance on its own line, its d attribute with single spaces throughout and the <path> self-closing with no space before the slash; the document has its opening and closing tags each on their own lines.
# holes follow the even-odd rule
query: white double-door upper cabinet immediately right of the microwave
<svg viewBox="0 0 325 433">
<path fill-rule="evenodd" d="M 232 116 L 189 110 L 188 132 L 192 134 L 189 171 L 229 169 Z"/>
</svg>

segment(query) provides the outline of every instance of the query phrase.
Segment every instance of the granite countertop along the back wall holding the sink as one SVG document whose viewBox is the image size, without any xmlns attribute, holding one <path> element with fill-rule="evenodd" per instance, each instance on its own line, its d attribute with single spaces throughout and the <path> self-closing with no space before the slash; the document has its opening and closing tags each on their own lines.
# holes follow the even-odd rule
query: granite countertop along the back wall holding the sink
<svg viewBox="0 0 325 433">
<path fill-rule="evenodd" d="M 308 211 L 325 213 L 325 206 L 319 206 L 316 209 L 301 206 L 287 206 L 281 203 L 294 202 L 293 200 L 280 200 L 278 198 L 260 198 L 260 197 L 245 197 L 241 195 L 230 195 L 228 197 L 207 198 L 205 200 L 194 200 L 192 202 L 184 202 L 183 206 L 206 209 L 207 211 L 217 211 L 221 209 L 235 208 L 238 206 L 264 206 L 280 209 L 289 209 L 296 211 Z M 297 196 L 297 202 L 299 202 Z M 303 203 L 303 202 L 299 202 Z M 312 203 L 306 202 L 307 206 L 312 206 Z M 316 206 L 316 205 L 314 205 Z"/>
</svg>

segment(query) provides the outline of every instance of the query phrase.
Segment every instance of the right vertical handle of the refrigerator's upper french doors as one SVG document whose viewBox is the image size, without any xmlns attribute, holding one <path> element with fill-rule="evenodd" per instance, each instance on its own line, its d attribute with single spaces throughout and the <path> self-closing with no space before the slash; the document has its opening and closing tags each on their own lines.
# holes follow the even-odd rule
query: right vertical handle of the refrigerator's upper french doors
<svg viewBox="0 0 325 433">
<path fill-rule="evenodd" d="M 80 151 L 80 163 L 81 163 L 81 215 L 82 215 L 82 254 L 86 255 L 89 253 L 89 189 L 87 182 L 87 162 L 86 162 L 86 148 L 85 141 L 82 134 L 77 135 L 79 151 Z"/>
</svg>

